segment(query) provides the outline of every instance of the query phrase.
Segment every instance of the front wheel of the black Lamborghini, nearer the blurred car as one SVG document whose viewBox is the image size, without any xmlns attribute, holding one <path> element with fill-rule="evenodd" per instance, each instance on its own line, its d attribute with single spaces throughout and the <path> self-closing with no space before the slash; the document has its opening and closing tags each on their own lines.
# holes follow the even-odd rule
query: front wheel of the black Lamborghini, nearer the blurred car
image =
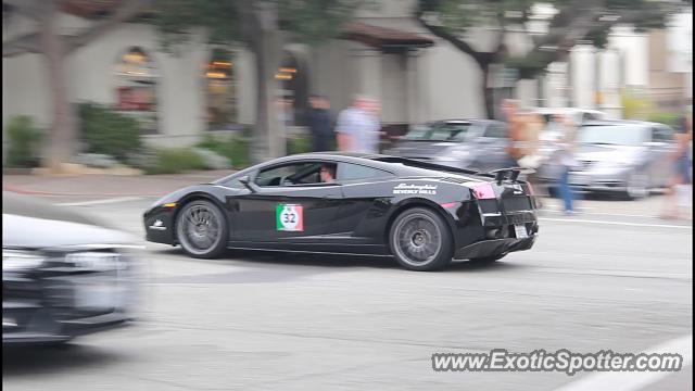
<svg viewBox="0 0 695 391">
<path fill-rule="evenodd" d="M 176 237 L 187 254 L 211 258 L 227 247 L 227 222 L 215 204 L 195 200 L 184 205 L 176 218 Z"/>
</svg>

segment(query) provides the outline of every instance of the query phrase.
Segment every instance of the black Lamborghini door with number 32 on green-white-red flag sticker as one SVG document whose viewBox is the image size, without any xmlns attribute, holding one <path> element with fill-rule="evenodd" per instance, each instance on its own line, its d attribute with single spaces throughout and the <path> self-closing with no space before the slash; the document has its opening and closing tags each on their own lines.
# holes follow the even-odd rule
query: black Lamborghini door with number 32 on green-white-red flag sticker
<svg viewBox="0 0 695 391">
<path fill-rule="evenodd" d="M 323 164 L 336 165 L 300 161 L 252 173 L 249 177 L 253 189 L 231 200 L 236 204 L 231 215 L 231 240 L 293 243 L 331 234 L 331 222 L 340 205 L 342 191 L 337 181 L 320 181 L 318 169 Z M 302 172 L 308 175 L 299 181 L 287 179 L 302 175 Z"/>
</svg>

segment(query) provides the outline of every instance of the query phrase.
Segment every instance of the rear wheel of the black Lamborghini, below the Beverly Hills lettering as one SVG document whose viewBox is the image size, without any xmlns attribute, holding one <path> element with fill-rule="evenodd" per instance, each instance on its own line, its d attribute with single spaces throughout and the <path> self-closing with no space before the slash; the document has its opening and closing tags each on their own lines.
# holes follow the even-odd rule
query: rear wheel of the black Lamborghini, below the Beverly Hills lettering
<svg viewBox="0 0 695 391">
<path fill-rule="evenodd" d="M 425 207 L 408 209 L 395 218 L 389 232 L 389 244 L 403 267 L 418 272 L 448 265 L 454 249 L 444 219 Z"/>
</svg>

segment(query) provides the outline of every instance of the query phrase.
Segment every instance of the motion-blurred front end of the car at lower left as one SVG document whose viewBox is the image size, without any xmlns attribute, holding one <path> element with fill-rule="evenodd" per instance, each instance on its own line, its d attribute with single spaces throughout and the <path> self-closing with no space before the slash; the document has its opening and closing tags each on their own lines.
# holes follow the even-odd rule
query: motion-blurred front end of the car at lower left
<svg viewBox="0 0 695 391">
<path fill-rule="evenodd" d="M 2 343 L 63 343 L 132 317 L 132 238 L 2 193 Z"/>
</svg>

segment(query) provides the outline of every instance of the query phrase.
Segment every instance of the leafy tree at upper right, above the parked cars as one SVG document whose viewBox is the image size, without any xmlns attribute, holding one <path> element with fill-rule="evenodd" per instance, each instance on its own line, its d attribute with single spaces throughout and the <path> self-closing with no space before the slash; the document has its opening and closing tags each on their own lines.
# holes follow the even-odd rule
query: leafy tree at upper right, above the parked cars
<svg viewBox="0 0 695 391">
<path fill-rule="evenodd" d="M 526 30 L 534 16 L 533 0 L 419 0 L 415 18 L 430 33 L 448 41 L 470 55 L 482 72 L 481 93 L 485 111 L 493 116 L 494 102 L 489 87 L 492 64 L 501 64 L 519 72 L 520 78 L 534 78 L 547 65 L 563 61 L 582 40 L 596 47 L 607 42 L 608 34 L 617 24 L 636 28 L 660 28 L 666 17 L 687 2 L 670 0 L 548 0 L 557 11 L 549 17 L 547 30 L 531 35 L 533 48 L 522 56 L 514 56 L 506 47 L 511 29 Z M 488 28 L 495 35 L 492 50 L 476 47 L 470 34 L 473 28 Z"/>
</svg>

